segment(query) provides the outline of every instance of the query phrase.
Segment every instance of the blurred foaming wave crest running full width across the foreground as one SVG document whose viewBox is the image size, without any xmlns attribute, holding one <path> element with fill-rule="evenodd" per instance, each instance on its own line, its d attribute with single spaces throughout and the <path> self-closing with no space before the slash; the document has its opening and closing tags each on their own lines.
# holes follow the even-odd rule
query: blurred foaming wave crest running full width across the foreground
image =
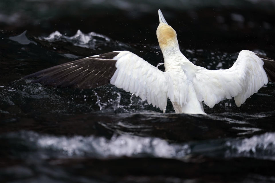
<svg viewBox="0 0 275 183">
<path fill-rule="evenodd" d="M 114 135 L 108 139 L 93 135 L 67 137 L 21 131 L 1 135 L 0 139 L 3 138 L 8 138 L 10 142 L 14 139 L 24 146 L 27 145 L 28 149 L 34 151 L 33 155 L 29 153 L 30 156 L 40 158 L 150 156 L 181 159 L 188 154 L 220 156 L 222 150 L 225 158 L 254 157 L 275 160 L 274 132 L 239 140 L 203 140 L 180 144 L 169 143 L 156 137 L 129 134 Z"/>
</svg>

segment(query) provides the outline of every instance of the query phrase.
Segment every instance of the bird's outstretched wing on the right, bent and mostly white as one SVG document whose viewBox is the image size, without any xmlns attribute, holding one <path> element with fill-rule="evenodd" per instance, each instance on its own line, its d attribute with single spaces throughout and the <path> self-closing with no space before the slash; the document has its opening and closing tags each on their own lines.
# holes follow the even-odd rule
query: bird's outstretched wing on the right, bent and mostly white
<svg viewBox="0 0 275 183">
<path fill-rule="evenodd" d="M 234 97 L 239 107 L 255 92 L 270 81 L 275 81 L 275 61 L 242 50 L 229 69 L 208 70 L 196 68 L 194 85 L 199 100 L 212 108 L 215 104 Z"/>
</svg>

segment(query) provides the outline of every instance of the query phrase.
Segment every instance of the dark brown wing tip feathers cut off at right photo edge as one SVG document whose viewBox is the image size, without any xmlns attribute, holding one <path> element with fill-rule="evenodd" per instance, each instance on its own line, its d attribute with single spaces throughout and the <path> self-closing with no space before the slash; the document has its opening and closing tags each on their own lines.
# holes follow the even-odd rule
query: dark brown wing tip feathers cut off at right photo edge
<svg viewBox="0 0 275 183">
<path fill-rule="evenodd" d="M 263 68 L 269 81 L 275 82 L 275 60 L 268 58 L 261 54 L 256 54 L 262 61 L 264 61 Z"/>
</svg>

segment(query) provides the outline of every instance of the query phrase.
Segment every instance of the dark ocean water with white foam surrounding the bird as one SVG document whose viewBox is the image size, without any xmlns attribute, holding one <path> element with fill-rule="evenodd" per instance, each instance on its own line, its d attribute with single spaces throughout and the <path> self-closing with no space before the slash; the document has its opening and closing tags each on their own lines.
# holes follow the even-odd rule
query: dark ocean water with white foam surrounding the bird
<svg viewBox="0 0 275 183">
<path fill-rule="evenodd" d="M 275 58 L 271 0 L 1 1 L 1 182 L 275 182 L 274 83 L 240 108 L 224 100 L 187 115 L 113 85 L 21 79 L 115 50 L 157 66 L 158 9 L 196 65 L 227 69 L 242 49 Z"/>
</svg>

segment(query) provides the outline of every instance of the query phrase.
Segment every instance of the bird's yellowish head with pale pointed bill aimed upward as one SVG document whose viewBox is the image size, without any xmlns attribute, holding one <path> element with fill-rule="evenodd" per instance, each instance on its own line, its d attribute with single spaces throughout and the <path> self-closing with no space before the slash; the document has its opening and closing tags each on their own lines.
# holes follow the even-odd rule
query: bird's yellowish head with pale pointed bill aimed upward
<svg viewBox="0 0 275 183">
<path fill-rule="evenodd" d="M 160 49 L 163 51 L 178 48 L 178 39 L 176 31 L 168 25 L 160 9 L 158 10 L 160 24 L 157 28 L 157 38 Z"/>
</svg>

